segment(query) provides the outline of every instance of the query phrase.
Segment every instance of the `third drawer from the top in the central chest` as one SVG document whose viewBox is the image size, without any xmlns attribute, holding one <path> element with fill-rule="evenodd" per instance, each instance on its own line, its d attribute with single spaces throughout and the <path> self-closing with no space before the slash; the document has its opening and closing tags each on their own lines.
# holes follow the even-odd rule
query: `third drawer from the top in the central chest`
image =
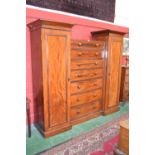
<svg viewBox="0 0 155 155">
<path fill-rule="evenodd" d="M 102 63 L 102 60 L 75 60 L 71 61 L 71 69 L 101 68 Z"/>
</svg>

